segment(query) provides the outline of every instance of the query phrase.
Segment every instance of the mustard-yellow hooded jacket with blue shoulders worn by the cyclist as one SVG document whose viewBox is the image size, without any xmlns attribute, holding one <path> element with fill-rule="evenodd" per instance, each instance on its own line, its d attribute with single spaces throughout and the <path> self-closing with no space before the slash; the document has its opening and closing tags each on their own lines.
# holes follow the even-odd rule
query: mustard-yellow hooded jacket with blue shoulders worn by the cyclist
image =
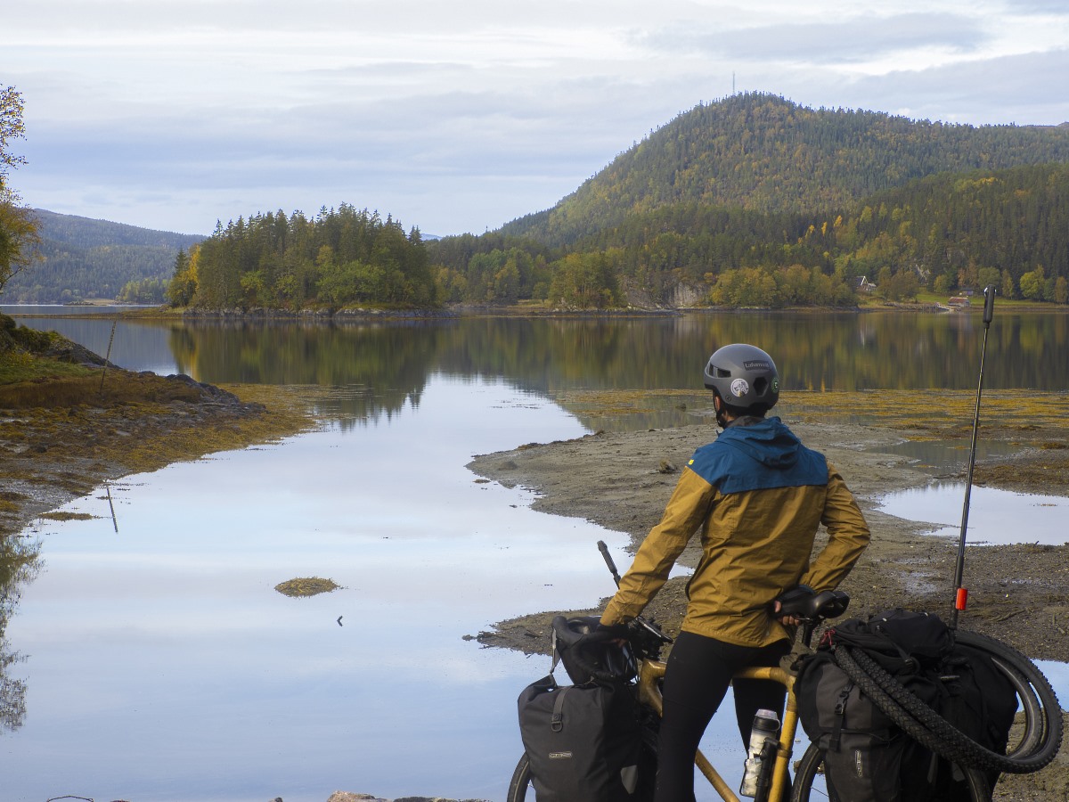
<svg viewBox="0 0 1069 802">
<path fill-rule="evenodd" d="M 820 524 L 828 542 L 810 564 Z M 682 629 L 741 646 L 787 637 L 771 615 L 773 600 L 799 584 L 836 587 L 869 541 L 853 495 L 823 454 L 779 418 L 744 419 L 695 452 L 602 623 L 641 613 L 699 529 L 703 553 L 687 583 Z"/>
</svg>

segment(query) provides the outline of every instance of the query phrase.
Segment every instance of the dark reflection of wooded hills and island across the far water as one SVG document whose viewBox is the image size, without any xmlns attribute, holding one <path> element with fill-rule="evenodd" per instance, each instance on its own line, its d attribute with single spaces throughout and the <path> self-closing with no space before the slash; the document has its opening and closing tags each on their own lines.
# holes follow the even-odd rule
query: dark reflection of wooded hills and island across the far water
<svg viewBox="0 0 1069 802">
<path fill-rule="evenodd" d="M 100 352 L 111 325 L 106 319 L 20 322 L 56 328 Z M 112 356 L 137 370 L 169 361 L 202 382 L 367 385 L 384 410 L 397 410 L 437 371 L 502 376 L 518 389 L 551 397 L 575 387 L 697 387 L 704 358 L 728 342 L 770 351 L 788 390 L 971 389 L 981 328 L 975 315 L 913 312 L 337 324 L 121 321 Z M 1069 315 L 1003 313 L 990 338 L 986 387 L 1069 386 Z M 362 403 L 352 410 L 377 413 Z"/>
</svg>

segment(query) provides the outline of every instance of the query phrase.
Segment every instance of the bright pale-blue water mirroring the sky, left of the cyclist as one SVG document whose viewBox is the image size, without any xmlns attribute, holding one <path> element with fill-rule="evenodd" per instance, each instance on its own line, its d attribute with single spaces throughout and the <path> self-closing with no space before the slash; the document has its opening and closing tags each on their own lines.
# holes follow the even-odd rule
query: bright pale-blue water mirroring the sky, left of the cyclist
<svg viewBox="0 0 1069 802">
<path fill-rule="evenodd" d="M 9 637 L 29 660 L 4 799 L 502 799 L 515 698 L 547 660 L 462 639 L 608 593 L 595 542 L 476 483 L 476 452 L 585 430 L 501 382 L 432 374 L 388 425 L 179 463 L 38 522 L 48 571 Z M 294 576 L 342 589 L 274 590 Z M 338 617 L 342 616 L 342 626 Z M 56 760 L 62 755 L 62 760 Z"/>
</svg>

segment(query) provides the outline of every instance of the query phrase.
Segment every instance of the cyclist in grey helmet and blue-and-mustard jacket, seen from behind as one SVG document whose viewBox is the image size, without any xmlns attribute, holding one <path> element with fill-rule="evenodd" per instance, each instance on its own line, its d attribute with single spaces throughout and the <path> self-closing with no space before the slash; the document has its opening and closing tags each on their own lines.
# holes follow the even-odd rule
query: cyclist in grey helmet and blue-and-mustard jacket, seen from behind
<svg viewBox="0 0 1069 802">
<path fill-rule="evenodd" d="M 655 802 L 693 802 L 694 755 L 731 676 L 778 665 L 790 651 L 793 632 L 785 624 L 795 621 L 777 619 L 777 597 L 797 585 L 836 587 L 869 541 L 838 472 L 779 418 L 765 417 L 779 399 L 772 357 L 754 345 L 725 345 L 710 357 L 704 384 L 723 432 L 695 451 L 601 617 L 611 629 L 641 613 L 700 529 L 702 556 L 664 679 Z M 828 540 L 810 564 L 820 524 Z M 758 709 L 783 719 L 785 695 L 778 682 L 735 682 L 744 745 Z"/>
</svg>

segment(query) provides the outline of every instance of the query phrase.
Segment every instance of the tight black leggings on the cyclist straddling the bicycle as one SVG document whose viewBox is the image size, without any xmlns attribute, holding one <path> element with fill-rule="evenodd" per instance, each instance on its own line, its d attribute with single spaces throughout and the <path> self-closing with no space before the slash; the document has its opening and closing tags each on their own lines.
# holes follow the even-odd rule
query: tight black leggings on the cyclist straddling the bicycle
<svg viewBox="0 0 1069 802">
<path fill-rule="evenodd" d="M 779 665 L 790 648 L 788 641 L 758 648 L 693 632 L 679 634 L 668 654 L 664 680 L 655 802 L 694 802 L 694 754 L 709 720 L 724 700 L 731 676 L 747 666 Z M 787 690 L 772 680 L 735 682 L 735 716 L 744 749 L 749 744 L 754 714 L 766 708 L 775 710 L 783 721 L 786 695 Z"/>
</svg>

